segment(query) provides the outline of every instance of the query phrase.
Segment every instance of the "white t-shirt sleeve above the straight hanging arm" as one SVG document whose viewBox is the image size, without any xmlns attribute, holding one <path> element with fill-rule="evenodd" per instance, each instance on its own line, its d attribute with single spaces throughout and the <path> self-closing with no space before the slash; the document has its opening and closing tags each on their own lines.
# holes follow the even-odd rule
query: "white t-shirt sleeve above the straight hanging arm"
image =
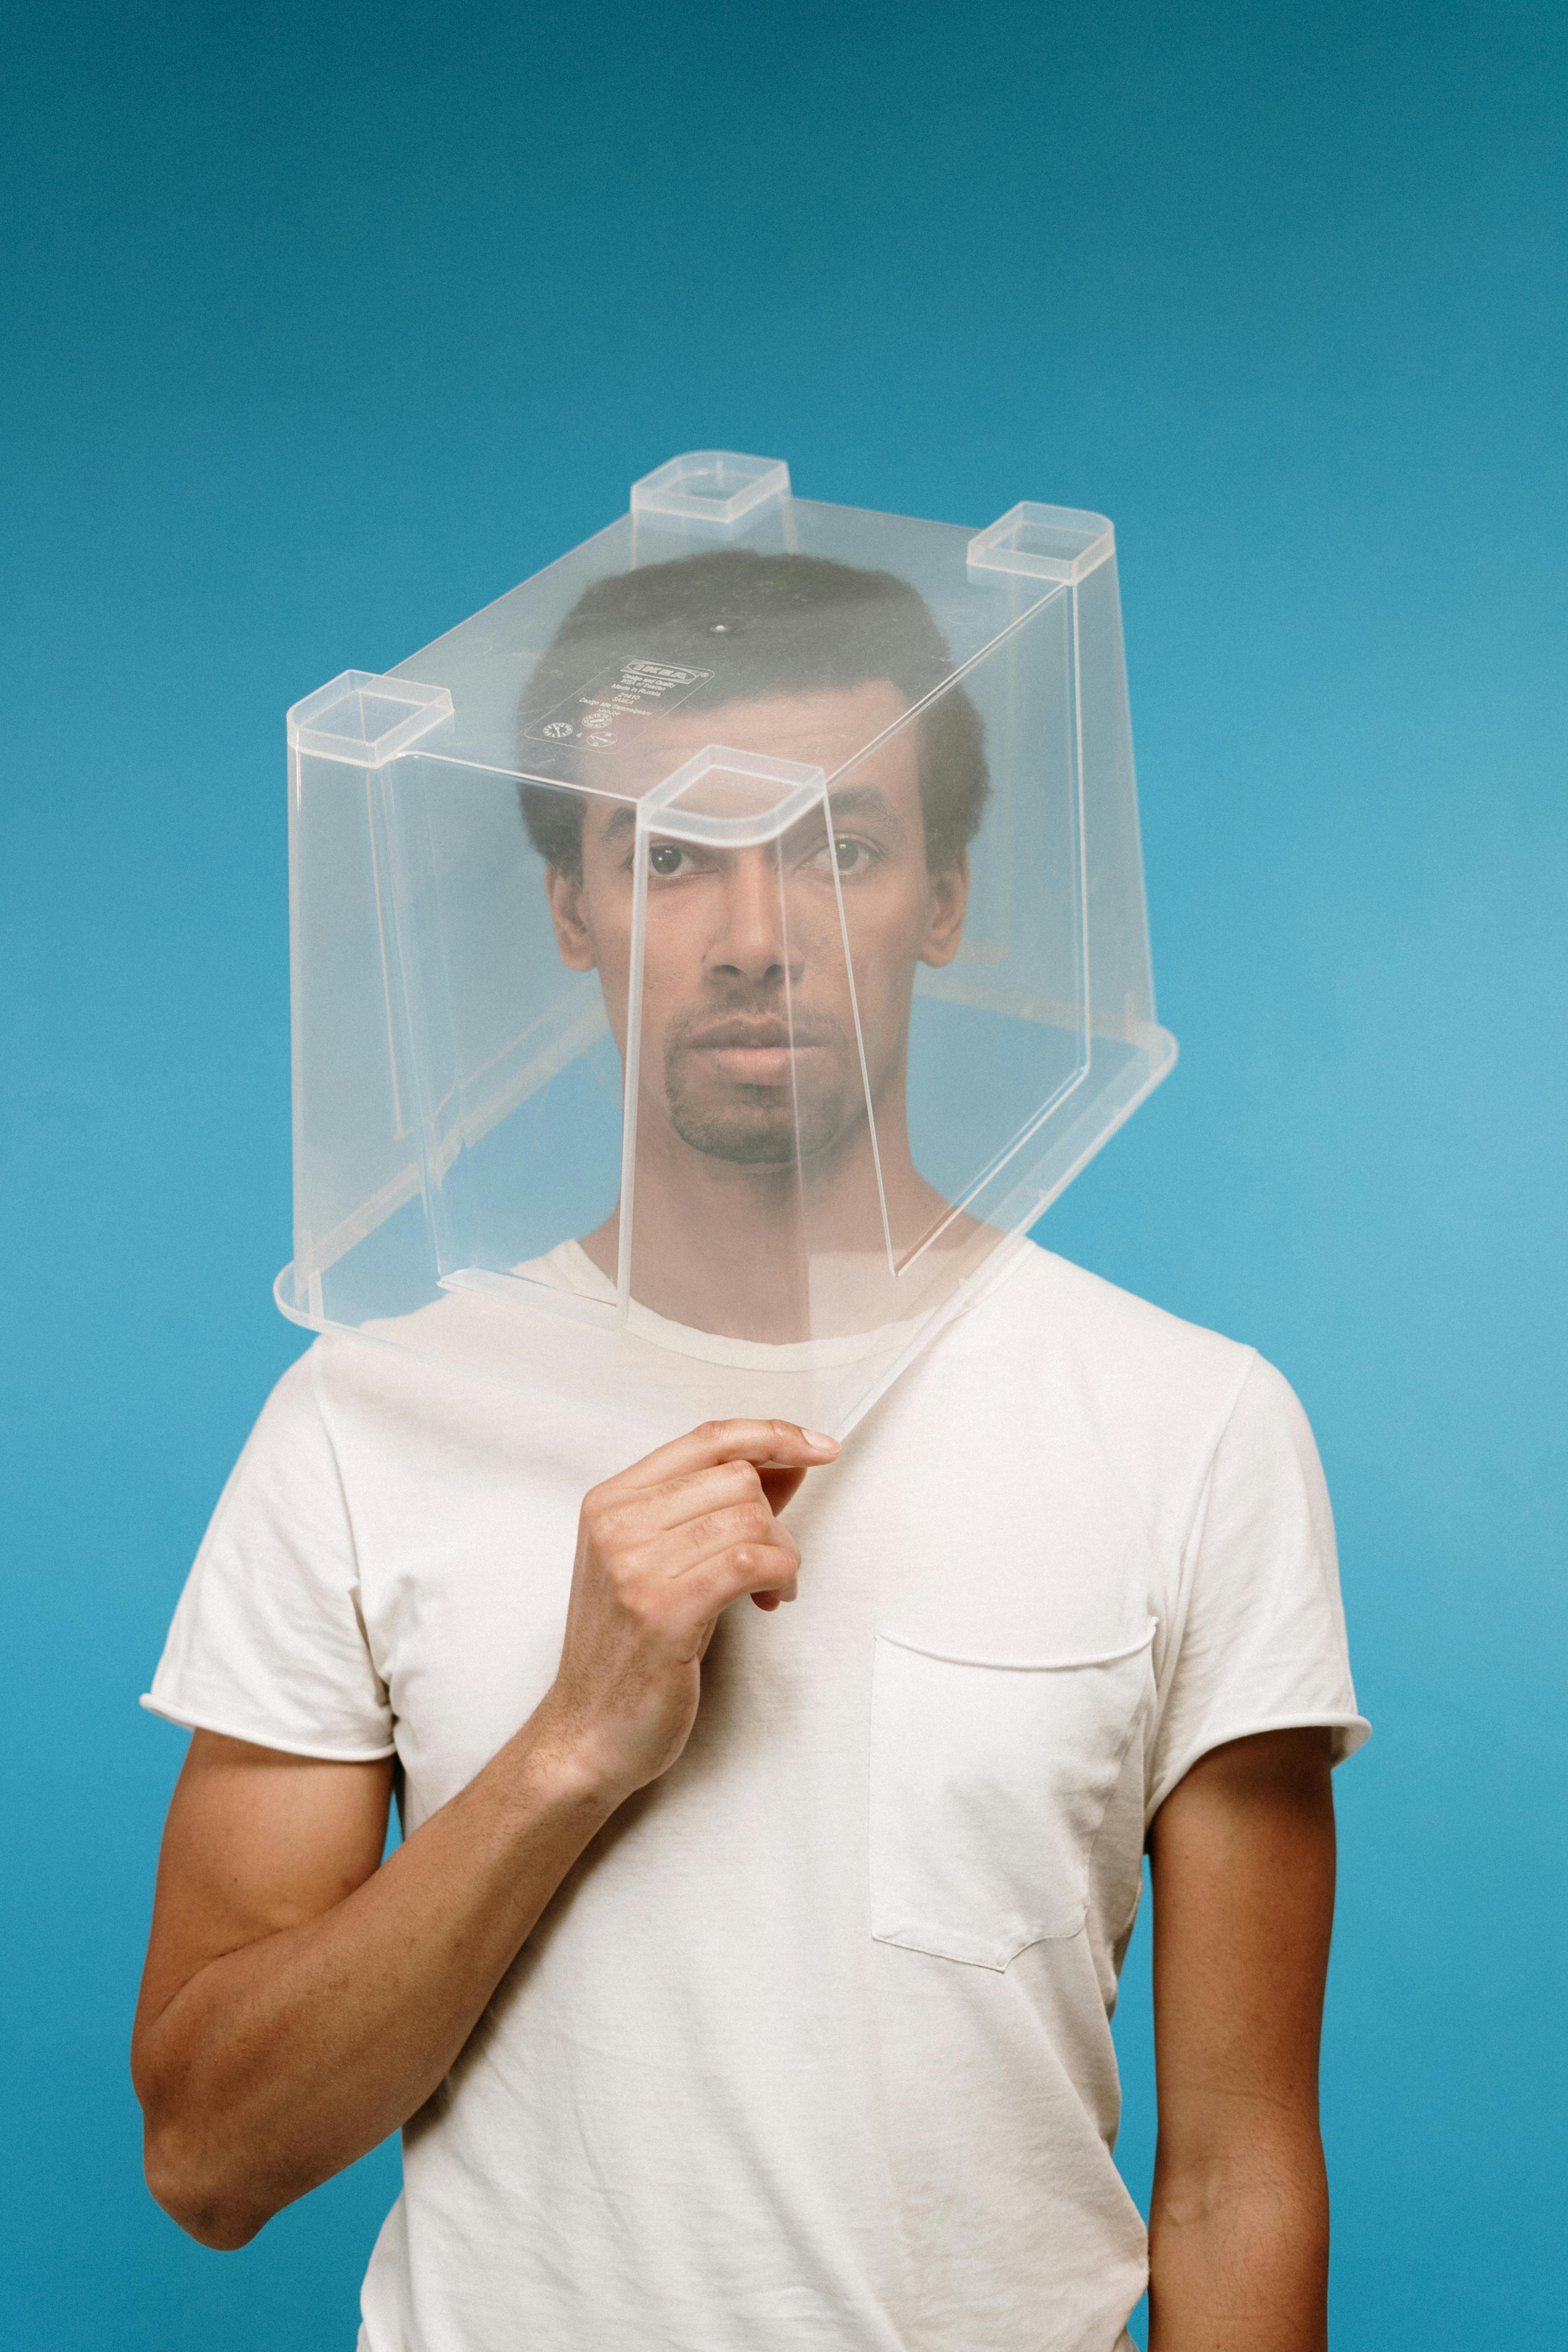
<svg viewBox="0 0 1568 2352">
<path fill-rule="evenodd" d="M 1371 1736 L 1349 1679 L 1324 1470 L 1295 1392 L 1260 1357 L 1199 1494 L 1173 1635 L 1150 1750 L 1150 1818 L 1225 1740 L 1324 1724 L 1340 1764 Z"/>
</svg>

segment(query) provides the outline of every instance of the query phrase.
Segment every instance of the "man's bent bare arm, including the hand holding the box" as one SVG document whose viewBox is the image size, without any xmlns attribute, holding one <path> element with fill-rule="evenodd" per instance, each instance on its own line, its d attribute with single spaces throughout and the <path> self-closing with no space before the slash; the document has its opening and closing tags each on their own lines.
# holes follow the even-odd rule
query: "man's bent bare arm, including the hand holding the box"
<svg viewBox="0 0 1568 2352">
<path fill-rule="evenodd" d="M 555 1684 L 386 1863 L 390 1764 L 195 1733 L 132 2039 L 148 2183 L 183 2230 L 247 2244 L 430 2098 L 571 1863 L 686 1745 L 719 1613 L 795 1599 L 773 1510 L 835 1454 L 712 1423 L 595 1486 Z"/>
</svg>

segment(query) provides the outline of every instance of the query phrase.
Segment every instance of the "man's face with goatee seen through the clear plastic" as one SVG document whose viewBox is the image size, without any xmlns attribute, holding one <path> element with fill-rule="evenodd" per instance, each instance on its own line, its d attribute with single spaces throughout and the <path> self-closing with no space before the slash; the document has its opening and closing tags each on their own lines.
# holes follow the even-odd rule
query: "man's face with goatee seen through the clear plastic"
<svg viewBox="0 0 1568 2352">
<path fill-rule="evenodd" d="M 769 753 L 835 774 L 858 743 L 907 710 L 889 682 L 820 689 L 717 710 L 668 713 L 625 753 L 590 753 L 583 781 L 642 795 L 705 743 Z M 898 1096 L 917 962 L 959 946 L 966 868 L 926 868 L 914 729 L 900 729 L 776 842 L 708 849 L 649 844 L 642 957 L 639 1096 L 696 1152 L 745 1167 L 816 1160 Z M 635 818 L 590 800 L 583 875 L 550 868 L 567 964 L 597 969 L 621 1054 L 632 950 Z M 851 1000 L 844 931 L 853 957 Z M 860 1044 L 856 1042 L 856 1004 Z"/>
</svg>

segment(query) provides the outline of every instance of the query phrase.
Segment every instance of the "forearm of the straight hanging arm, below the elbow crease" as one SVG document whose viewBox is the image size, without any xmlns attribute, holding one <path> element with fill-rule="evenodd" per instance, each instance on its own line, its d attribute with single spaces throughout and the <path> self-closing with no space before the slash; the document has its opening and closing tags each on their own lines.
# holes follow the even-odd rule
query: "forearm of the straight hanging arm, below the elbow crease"
<svg viewBox="0 0 1568 2352">
<path fill-rule="evenodd" d="M 1161 2178 L 1150 2204 L 1150 2352 L 1324 2352 L 1328 2180 L 1312 2143 Z"/>
</svg>

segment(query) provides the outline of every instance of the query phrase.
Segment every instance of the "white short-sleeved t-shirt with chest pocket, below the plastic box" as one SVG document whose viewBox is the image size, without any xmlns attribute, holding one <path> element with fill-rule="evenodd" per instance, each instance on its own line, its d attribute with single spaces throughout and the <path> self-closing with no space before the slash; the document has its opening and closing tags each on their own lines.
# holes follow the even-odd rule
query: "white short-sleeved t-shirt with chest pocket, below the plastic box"
<svg viewBox="0 0 1568 2352">
<path fill-rule="evenodd" d="M 583 1491 L 686 1425 L 668 1364 L 607 1425 L 320 1341 L 146 1703 L 397 1752 L 416 1830 L 545 1693 Z M 362 2352 L 1124 2343 L 1110 2011 L 1145 1823 L 1220 1740 L 1366 1738 L 1307 1421 L 1248 1348 L 1027 1249 L 790 1526 L 799 1602 L 722 1621 L 684 1757 L 407 2126 Z"/>
</svg>

